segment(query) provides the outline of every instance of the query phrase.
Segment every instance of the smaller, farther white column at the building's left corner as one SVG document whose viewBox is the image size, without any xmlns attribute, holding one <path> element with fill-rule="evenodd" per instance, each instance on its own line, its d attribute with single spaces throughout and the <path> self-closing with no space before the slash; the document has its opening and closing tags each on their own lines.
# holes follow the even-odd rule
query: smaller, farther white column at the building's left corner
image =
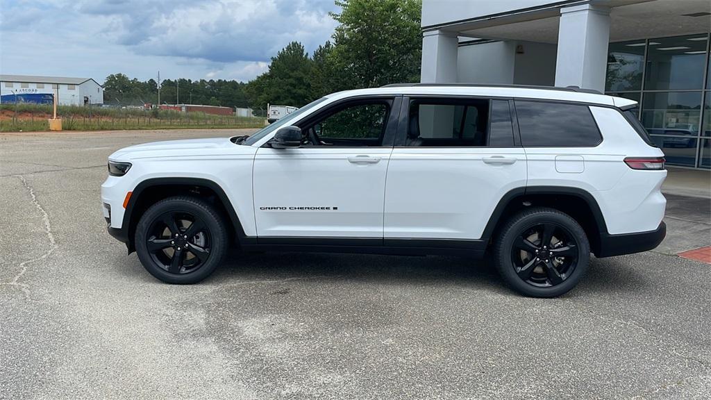
<svg viewBox="0 0 711 400">
<path fill-rule="evenodd" d="M 424 32 L 422 36 L 422 83 L 456 83 L 456 33 Z"/>
</svg>

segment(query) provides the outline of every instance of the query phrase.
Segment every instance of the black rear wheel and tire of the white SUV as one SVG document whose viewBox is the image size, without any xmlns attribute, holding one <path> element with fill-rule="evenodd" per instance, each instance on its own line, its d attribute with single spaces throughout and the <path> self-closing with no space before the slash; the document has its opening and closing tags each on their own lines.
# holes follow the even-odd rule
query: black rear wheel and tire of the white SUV
<svg viewBox="0 0 711 400">
<path fill-rule="evenodd" d="M 494 246 L 496 268 L 523 295 L 555 298 L 575 287 L 587 271 L 590 244 L 567 214 L 542 207 L 511 217 Z"/>
</svg>

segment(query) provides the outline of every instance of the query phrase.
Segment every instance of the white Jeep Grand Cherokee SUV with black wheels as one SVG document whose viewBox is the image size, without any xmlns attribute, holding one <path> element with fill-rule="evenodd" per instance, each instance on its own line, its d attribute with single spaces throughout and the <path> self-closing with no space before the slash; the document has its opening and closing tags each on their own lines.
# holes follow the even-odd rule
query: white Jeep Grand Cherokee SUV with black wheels
<svg viewBox="0 0 711 400">
<path fill-rule="evenodd" d="M 590 253 L 665 236 L 663 153 L 636 102 L 577 88 L 388 85 L 328 95 L 250 137 L 109 157 L 112 236 L 167 283 L 242 251 L 481 257 L 525 295 L 574 287 Z"/>
</svg>

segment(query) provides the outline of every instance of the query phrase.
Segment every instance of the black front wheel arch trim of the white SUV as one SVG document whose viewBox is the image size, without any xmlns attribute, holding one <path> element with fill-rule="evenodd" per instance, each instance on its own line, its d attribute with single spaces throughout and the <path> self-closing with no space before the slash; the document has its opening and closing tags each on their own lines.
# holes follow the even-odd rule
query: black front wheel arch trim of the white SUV
<svg viewBox="0 0 711 400">
<path fill-rule="evenodd" d="M 232 233 L 235 242 L 239 245 L 246 238 L 245 230 L 242 228 L 242 223 L 234 206 L 232 206 L 232 202 L 225 190 L 217 182 L 204 178 L 151 178 L 141 181 L 133 189 L 124 211 L 122 227 L 126 229 L 125 235 L 128 239 L 127 247 L 129 253 L 135 250 L 134 236 L 136 226 L 143 213 L 156 201 L 178 194 L 193 194 L 201 198 L 210 199 L 218 211 L 230 219 L 230 233 Z"/>
</svg>

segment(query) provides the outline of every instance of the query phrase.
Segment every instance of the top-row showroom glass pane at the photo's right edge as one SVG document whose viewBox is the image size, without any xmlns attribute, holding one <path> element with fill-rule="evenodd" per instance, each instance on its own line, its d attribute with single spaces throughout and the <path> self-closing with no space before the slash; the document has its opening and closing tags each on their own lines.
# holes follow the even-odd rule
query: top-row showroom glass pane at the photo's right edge
<svg viewBox="0 0 711 400">
<path fill-rule="evenodd" d="M 702 89 L 708 35 L 649 40 L 645 90 Z"/>
</svg>

